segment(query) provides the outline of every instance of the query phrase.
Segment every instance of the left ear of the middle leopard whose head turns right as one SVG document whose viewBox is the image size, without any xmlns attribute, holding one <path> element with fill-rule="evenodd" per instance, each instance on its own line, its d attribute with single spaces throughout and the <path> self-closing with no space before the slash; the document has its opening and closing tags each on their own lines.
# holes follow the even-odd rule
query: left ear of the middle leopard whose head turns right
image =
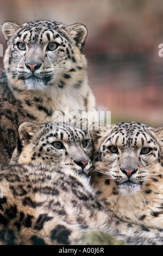
<svg viewBox="0 0 163 256">
<path fill-rule="evenodd" d="M 38 127 L 38 125 L 29 121 L 24 121 L 18 126 L 18 136 L 22 145 L 29 144 L 30 139 L 34 136 Z"/>
</svg>

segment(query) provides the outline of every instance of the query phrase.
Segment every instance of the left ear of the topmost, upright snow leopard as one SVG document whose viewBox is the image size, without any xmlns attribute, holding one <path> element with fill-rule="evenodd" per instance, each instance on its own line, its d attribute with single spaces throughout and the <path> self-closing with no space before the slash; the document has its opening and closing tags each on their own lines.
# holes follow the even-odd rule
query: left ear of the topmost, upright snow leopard
<svg viewBox="0 0 163 256">
<path fill-rule="evenodd" d="M 19 29 L 20 26 L 16 22 L 5 21 L 2 26 L 2 32 L 5 39 L 8 41 L 12 35 Z"/>
</svg>

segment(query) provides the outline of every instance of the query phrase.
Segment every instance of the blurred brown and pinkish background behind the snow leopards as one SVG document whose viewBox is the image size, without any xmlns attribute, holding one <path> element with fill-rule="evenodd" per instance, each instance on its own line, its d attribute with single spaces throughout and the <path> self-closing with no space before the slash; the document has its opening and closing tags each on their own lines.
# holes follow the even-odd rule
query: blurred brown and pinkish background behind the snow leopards
<svg viewBox="0 0 163 256">
<path fill-rule="evenodd" d="M 1 0 L 0 8 L 1 26 L 7 20 L 83 23 L 98 109 L 111 111 L 111 123 L 163 125 L 162 0 Z M 0 39 L 5 51 L 2 32 Z"/>
</svg>

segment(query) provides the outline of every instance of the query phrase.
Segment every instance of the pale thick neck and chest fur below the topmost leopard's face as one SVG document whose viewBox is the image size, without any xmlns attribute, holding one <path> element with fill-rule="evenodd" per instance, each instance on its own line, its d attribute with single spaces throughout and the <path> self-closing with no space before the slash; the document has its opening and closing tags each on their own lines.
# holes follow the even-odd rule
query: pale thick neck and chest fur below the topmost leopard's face
<svg viewBox="0 0 163 256">
<path fill-rule="evenodd" d="M 78 86 L 80 78 L 82 81 L 81 87 Z M 35 114 L 38 110 L 37 106 L 40 107 L 40 110 L 42 108 L 47 109 L 49 117 L 48 115 L 45 117 L 45 113 L 42 114 L 42 120 L 39 123 L 45 123 L 45 121 L 51 121 L 52 119 L 58 120 L 60 113 L 61 116 L 67 116 L 65 121 L 68 121 L 71 112 L 95 111 L 95 99 L 92 97 L 89 101 L 91 90 L 88 86 L 86 69 L 80 70 L 78 76 L 73 77 L 73 80 L 68 81 L 63 88 L 60 88 L 58 83 L 54 82 L 51 86 L 42 90 L 28 90 L 21 80 L 17 80 L 16 83 L 11 77 L 8 80 L 10 81 L 11 91 L 17 100 L 23 102 L 27 112 Z M 53 118 L 51 113 L 54 115 Z M 74 115 L 73 113 L 72 115 Z"/>
</svg>

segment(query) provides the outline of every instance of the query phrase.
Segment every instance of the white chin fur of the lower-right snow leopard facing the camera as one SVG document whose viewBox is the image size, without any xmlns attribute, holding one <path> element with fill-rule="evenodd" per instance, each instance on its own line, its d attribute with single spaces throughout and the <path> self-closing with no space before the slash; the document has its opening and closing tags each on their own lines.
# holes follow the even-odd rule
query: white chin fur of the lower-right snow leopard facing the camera
<svg viewBox="0 0 163 256">
<path fill-rule="evenodd" d="M 140 184 L 133 184 L 133 183 L 124 183 L 124 184 L 119 184 L 118 185 L 118 191 L 123 194 L 136 194 L 141 190 L 141 185 Z"/>
</svg>

